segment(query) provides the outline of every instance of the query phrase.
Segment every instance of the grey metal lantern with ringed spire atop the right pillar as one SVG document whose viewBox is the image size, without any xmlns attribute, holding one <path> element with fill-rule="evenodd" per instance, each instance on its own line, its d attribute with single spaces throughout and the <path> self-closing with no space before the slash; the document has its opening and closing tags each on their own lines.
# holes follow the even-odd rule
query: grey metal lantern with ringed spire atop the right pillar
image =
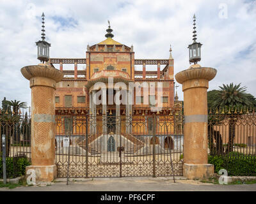
<svg viewBox="0 0 256 204">
<path fill-rule="evenodd" d="M 201 43 L 196 42 L 196 17 L 194 14 L 194 31 L 193 31 L 193 43 L 188 46 L 189 48 L 189 63 L 197 64 L 201 60 Z"/>
</svg>

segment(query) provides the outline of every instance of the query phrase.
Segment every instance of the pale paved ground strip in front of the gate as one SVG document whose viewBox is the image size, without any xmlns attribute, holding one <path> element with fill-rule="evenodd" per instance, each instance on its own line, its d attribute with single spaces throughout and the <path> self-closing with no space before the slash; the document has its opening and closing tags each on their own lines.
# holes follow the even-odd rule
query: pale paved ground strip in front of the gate
<svg viewBox="0 0 256 204">
<path fill-rule="evenodd" d="M 204 184 L 197 180 L 172 177 L 133 177 L 111 179 L 57 179 L 52 184 L 41 186 L 0 188 L 0 191 L 256 191 L 256 184 L 220 185 Z"/>
</svg>

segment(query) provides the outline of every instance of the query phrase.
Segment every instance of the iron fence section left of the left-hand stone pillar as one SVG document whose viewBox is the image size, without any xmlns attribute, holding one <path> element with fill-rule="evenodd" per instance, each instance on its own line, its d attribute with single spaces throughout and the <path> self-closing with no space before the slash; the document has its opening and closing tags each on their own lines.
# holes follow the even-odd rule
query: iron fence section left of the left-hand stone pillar
<svg viewBox="0 0 256 204">
<path fill-rule="evenodd" d="M 17 177 L 25 173 L 26 164 L 31 162 L 31 117 L 30 114 L 19 115 L 13 113 L 0 114 L 0 160 L 2 164 L 2 136 L 5 136 L 6 169 L 8 178 Z M 26 161 L 22 166 L 20 159 Z M 0 166 L 1 166 L 0 164 Z M 3 172 L 0 172 L 3 177 Z"/>
</svg>

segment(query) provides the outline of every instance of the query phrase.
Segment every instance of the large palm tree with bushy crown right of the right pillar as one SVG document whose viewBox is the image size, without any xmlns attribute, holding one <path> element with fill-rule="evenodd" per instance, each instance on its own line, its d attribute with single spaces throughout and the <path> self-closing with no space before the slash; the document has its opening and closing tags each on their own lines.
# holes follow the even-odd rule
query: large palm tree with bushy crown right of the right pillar
<svg viewBox="0 0 256 204">
<path fill-rule="evenodd" d="M 236 108 L 241 109 L 243 106 L 255 106 L 256 99 L 246 92 L 246 87 L 241 87 L 241 83 L 234 85 L 223 84 L 223 87 L 215 93 L 215 100 L 212 106 L 216 109 L 218 108 L 226 110 L 231 114 L 230 109 L 236 110 Z M 236 135 L 236 120 L 239 117 L 239 112 L 233 111 L 231 115 L 228 115 L 228 145 L 225 152 L 232 152 L 234 138 Z"/>
</svg>

